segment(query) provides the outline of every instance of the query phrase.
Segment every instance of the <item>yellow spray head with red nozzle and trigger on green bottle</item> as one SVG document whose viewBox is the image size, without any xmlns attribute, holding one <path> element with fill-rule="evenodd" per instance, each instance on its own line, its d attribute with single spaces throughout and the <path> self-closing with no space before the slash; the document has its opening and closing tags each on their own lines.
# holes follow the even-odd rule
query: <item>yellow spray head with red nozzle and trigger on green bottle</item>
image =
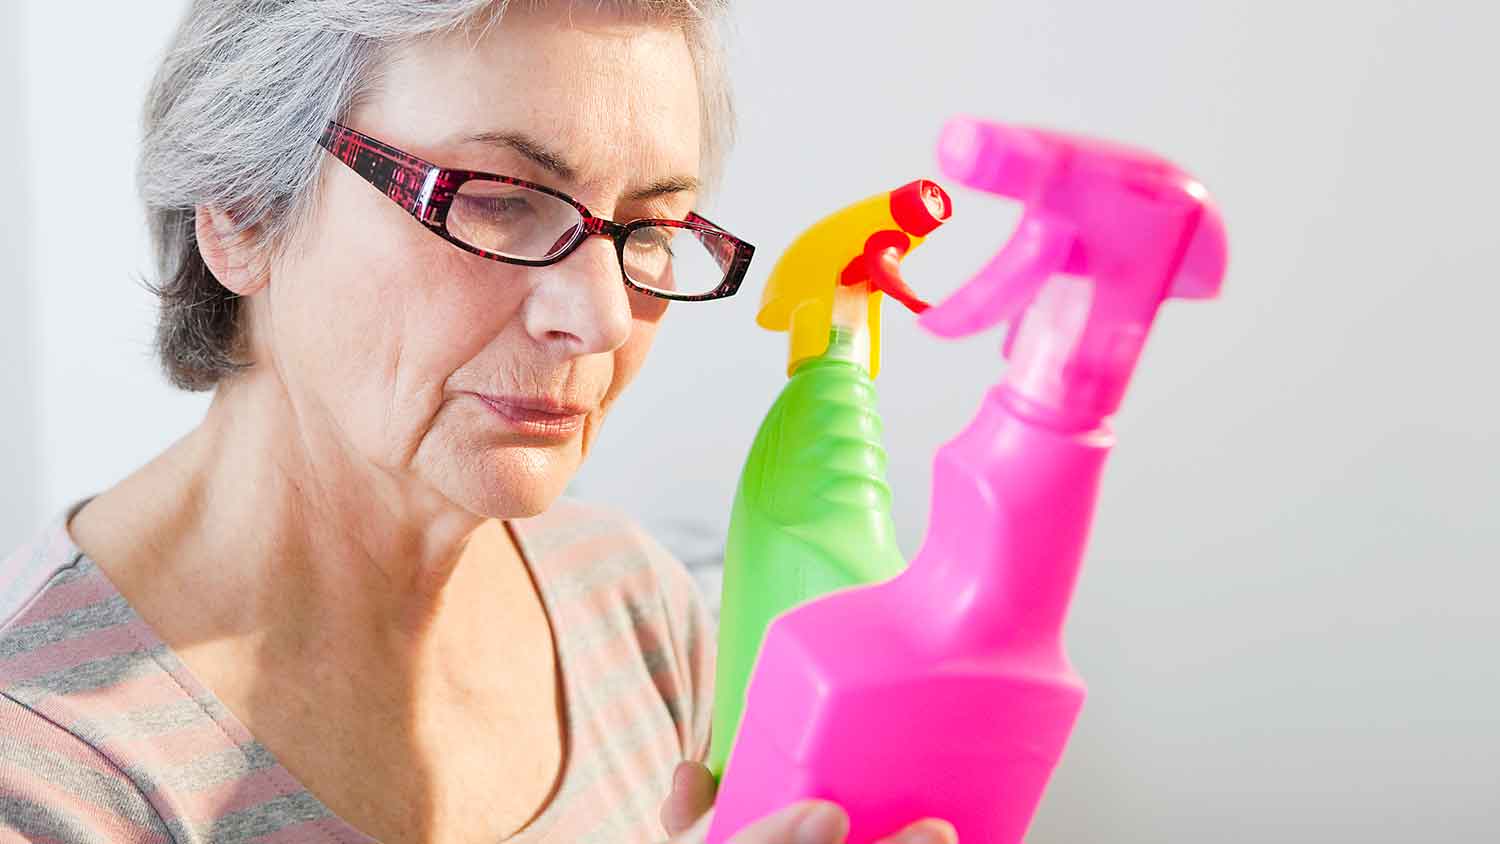
<svg viewBox="0 0 1500 844">
<path fill-rule="evenodd" d="M 879 375 L 880 294 L 914 310 L 926 307 L 906 289 L 898 262 L 951 213 L 948 193 L 918 178 L 834 211 L 792 241 L 771 270 L 756 315 L 762 328 L 790 334 L 788 375 L 828 351 L 836 291 L 861 283 L 868 291 L 870 378 Z"/>
</svg>

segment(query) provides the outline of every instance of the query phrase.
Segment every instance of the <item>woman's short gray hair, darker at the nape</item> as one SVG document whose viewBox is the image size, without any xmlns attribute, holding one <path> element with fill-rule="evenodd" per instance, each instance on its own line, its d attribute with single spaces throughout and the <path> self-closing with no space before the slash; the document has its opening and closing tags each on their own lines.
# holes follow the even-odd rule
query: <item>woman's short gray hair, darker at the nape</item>
<svg viewBox="0 0 1500 844">
<path fill-rule="evenodd" d="M 702 102 L 704 183 L 734 133 L 724 73 L 729 0 L 592 0 L 682 25 Z M 274 255 L 306 220 L 315 139 L 380 82 L 402 43 L 500 21 L 513 0 L 192 0 L 152 81 L 138 187 L 156 253 L 156 351 L 168 379 L 212 390 L 249 366 L 238 298 L 198 252 L 195 208 L 260 226 Z M 526 0 L 544 6 L 546 0 Z"/>
</svg>

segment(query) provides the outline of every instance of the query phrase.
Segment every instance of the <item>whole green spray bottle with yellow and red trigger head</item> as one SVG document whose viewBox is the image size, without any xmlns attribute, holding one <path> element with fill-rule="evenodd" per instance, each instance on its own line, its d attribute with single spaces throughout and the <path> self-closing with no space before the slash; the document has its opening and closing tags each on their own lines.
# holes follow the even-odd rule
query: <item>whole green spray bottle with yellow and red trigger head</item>
<svg viewBox="0 0 1500 844">
<path fill-rule="evenodd" d="M 876 408 L 880 298 L 921 313 L 900 262 L 952 202 L 927 180 L 802 232 L 766 280 L 756 322 L 788 331 L 789 379 L 760 423 L 729 519 L 708 768 L 723 777 L 766 627 L 836 589 L 906 568 L 896 544 Z"/>
</svg>

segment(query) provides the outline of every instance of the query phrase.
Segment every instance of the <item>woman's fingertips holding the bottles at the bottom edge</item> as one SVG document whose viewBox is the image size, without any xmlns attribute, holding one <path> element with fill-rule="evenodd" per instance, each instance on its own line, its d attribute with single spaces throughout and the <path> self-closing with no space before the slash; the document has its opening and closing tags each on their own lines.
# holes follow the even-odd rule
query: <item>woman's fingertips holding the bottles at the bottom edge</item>
<svg viewBox="0 0 1500 844">
<path fill-rule="evenodd" d="M 714 775 L 696 762 L 684 762 L 672 775 L 672 793 L 662 804 L 662 825 L 672 841 L 702 844 L 712 819 Z M 694 823 L 696 820 L 696 823 Z M 740 831 L 729 844 L 843 844 L 849 817 L 834 804 L 806 801 Z M 920 820 L 879 844 L 958 844 L 958 835 L 944 820 Z"/>
</svg>

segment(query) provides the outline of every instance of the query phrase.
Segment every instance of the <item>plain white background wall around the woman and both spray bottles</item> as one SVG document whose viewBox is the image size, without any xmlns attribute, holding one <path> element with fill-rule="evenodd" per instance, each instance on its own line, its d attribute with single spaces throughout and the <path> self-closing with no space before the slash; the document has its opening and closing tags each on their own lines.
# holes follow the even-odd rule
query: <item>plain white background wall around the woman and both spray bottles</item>
<svg viewBox="0 0 1500 844">
<path fill-rule="evenodd" d="M 135 280 L 136 114 L 178 12 L 0 3 L 0 546 L 204 406 L 158 375 Z M 765 273 L 816 216 L 936 175 L 946 115 L 1150 147 L 1220 199 L 1232 271 L 1221 301 L 1164 309 L 1118 418 L 1068 637 L 1090 700 L 1029 840 L 1496 840 L 1497 6 L 746 0 L 738 21 L 712 216 L 762 258 L 746 295 L 674 309 L 576 490 L 712 556 L 782 384 L 784 337 L 752 327 Z M 954 193 L 908 261 L 933 297 L 1016 219 Z M 886 318 L 915 550 L 927 460 L 998 336 Z"/>
</svg>

